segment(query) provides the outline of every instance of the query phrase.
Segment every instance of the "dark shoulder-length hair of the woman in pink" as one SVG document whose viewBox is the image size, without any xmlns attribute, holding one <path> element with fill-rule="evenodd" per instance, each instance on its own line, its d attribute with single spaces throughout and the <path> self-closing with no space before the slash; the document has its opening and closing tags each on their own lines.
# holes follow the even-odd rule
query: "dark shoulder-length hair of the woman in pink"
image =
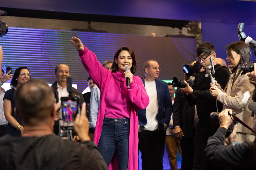
<svg viewBox="0 0 256 170">
<path fill-rule="evenodd" d="M 135 55 L 134 55 L 134 52 L 132 50 L 132 48 L 129 48 L 129 47 L 121 47 L 119 48 L 117 51 L 116 51 L 116 54 L 114 56 L 114 61 L 115 61 L 115 58 L 117 59 L 118 55 L 121 53 L 121 51 L 128 51 L 132 57 L 132 67 L 131 67 L 131 72 L 132 74 L 134 74 L 137 70 L 137 66 L 136 66 L 136 60 L 135 60 Z M 112 64 L 112 72 L 115 73 L 116 71 L 118 71 L 118 65 L 116 62 L 113 62 Z"/>
</svg>

